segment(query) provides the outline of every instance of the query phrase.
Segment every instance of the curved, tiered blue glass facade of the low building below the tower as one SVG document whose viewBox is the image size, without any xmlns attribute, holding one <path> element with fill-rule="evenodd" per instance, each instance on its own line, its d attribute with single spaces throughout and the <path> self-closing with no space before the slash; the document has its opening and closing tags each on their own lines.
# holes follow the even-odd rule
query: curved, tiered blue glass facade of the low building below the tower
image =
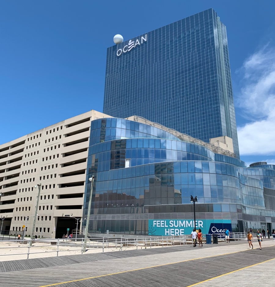
<svg viewBox="0 0 275 287">
<path fill-rule="evenodd" d="M 263 222 L 275 228 L 274 170 L 244 166 L 144 123 L 94 120 L 83 218 L 90 197 L 88 178 L 94 175 L 91 233 L 147 235 L 152 220 L 192 220 L 190 195 L 198 197 L 196 218 L 207 228 L 218 224 L 242 231 L 261 228 Z"/>
</svg>

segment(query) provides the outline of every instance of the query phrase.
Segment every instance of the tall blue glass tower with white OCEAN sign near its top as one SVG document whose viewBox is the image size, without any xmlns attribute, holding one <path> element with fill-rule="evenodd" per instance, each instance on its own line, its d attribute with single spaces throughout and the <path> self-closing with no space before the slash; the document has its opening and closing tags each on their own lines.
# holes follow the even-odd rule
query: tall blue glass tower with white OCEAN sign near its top
<svg viewBox="0 0 275 287">
<path fill-rule="evenodd" d="M 107 49 L 103 112 L 142 116 L 239 158 L 226 27 L 213 9 Z"/>
</svg>

